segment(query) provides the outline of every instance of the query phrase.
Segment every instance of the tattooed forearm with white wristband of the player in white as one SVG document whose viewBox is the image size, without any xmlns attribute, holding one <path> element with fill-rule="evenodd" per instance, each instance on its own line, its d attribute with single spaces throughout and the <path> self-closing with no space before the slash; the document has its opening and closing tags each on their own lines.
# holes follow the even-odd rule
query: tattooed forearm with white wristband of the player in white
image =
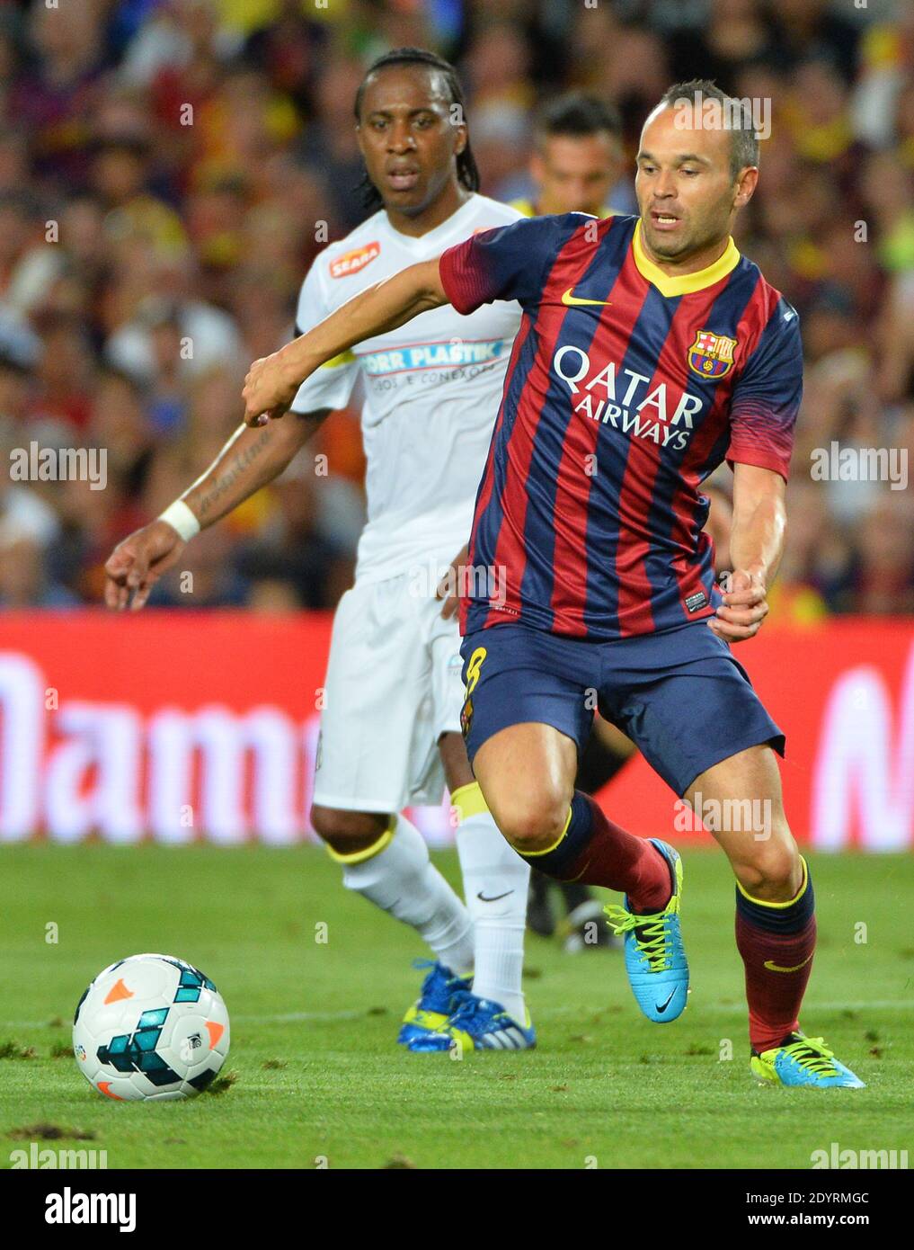
<svg viewBox="0 0 914 1250">
<path fill-rule="evenodd" d="M 194 485 L 155 521 L 127 535 L 105 565 L 105 602 L 115 611 L 144 608 L 156 581 L 201 529 L 214 525 L 288 465 L 328 409 L 248 430 L 241 425 Z"/>
</svg>

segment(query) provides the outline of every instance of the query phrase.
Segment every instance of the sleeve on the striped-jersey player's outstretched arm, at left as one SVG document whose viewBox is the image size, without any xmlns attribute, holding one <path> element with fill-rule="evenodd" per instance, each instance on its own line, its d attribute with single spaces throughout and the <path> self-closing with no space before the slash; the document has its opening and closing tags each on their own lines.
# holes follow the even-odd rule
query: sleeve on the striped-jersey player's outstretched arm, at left
<svg viewBox="0 0 914 1250">
<path fill-rule="evenodd" d="M 582 220 L 578 212 L 523 219 L 448 248 L 438 260 L 448 301 L 464 315 L 493 300 L 536 304 L 547 266 Z"/>
</svg>

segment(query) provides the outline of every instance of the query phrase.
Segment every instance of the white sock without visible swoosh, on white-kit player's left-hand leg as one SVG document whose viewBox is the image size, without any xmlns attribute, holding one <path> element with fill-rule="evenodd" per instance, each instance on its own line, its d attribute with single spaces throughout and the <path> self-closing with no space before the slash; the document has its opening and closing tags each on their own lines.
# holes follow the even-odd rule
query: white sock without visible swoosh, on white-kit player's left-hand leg
<svg viewBox="0 0 914 1250">
<path fill-rule="evenodd" d="M 341 860 L 343 885 L 412 925 L 436 959 L 452 972 L 467 975 L 473 966 L 473 924 L 430 861 L 425 838 L 405 816 L 397 816 L 393 836 L 385 839 L 382 849 L 363 860 Z"/>
</svg>

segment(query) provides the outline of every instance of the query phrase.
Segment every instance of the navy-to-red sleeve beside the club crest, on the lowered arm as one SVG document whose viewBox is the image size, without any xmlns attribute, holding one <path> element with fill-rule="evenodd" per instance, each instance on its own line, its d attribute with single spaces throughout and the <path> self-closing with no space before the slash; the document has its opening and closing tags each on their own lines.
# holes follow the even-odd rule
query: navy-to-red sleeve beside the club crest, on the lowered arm
<svg viewBox="0 0 914 1250">
<path fill-rule="evenodd" d="M 787 481 L 802 398 L 799 318 L 782 299 L 733 389 L 728 464 L 770 469 Z"/>
</svg>

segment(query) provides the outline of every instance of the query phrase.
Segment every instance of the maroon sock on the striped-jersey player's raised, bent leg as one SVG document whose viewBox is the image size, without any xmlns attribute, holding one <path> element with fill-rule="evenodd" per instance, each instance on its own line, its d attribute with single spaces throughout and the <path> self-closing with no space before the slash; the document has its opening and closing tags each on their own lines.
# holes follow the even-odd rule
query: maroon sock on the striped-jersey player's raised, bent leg
<svg viewBox="0 0 914 1250">
<path fill-rule="evenodd" d="M 581 881 L 622 890 L 632 911 L 662 911 L 673 892 L 669 865 L 646 838 L 637 838 L 603 814 L 581 790 L 572 800 L 566 836 L 531 864 L 558 881 Z"/>
</svg>

